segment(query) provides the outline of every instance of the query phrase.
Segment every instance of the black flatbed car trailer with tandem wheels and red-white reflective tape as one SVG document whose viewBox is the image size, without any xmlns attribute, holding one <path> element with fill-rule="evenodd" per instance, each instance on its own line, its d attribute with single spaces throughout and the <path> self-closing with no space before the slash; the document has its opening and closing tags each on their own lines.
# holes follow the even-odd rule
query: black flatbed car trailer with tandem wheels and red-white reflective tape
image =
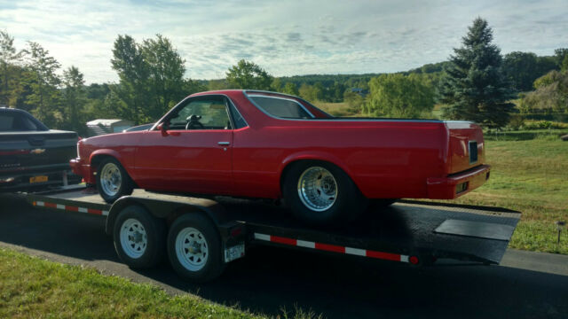
<svg viewBox="0 0 568 319">
<path fill-rule="evenodd" d="M 262 200 L 215 200 L 135 191 L 109 205 L 84 186 L 27 194 L 36 207 L 106 218 L 116 253 L 149 268 L 167 253 L 185 279 L 206 282 L 252 245 L 430 265 L 438 259 L 499 264 L 520 213 L 504 208 L 399 200 L 369 209 L 365 222 L 313 227 Z"/>
</svg>

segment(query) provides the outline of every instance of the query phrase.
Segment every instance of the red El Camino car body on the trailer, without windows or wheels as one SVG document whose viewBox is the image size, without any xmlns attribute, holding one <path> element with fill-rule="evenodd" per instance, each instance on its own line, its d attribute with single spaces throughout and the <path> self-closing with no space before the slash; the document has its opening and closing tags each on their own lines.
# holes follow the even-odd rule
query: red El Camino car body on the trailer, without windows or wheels
<svg viewBox="0 0 568 319">
<path fill-rule="evenodd" d="M 154 128 L 78 142 L 75 174 L 95 183 L 101 157 L 117 159 L 139 188 L 247 198 L 280 198 L 290 163 L 340 167 L 367 198 L 456 198 L 489 178 L 481 128 L 467 121 L 334 118 L 298 97 L 222 90 L 246 121 L 235 129 Z M 251 95 L 293 99 L 312 119 L 265 113 Z M 183 102 L 182 102 L 183 103 Z M 165 116 L 164 116 L 165 118 Z"/>
</svg>

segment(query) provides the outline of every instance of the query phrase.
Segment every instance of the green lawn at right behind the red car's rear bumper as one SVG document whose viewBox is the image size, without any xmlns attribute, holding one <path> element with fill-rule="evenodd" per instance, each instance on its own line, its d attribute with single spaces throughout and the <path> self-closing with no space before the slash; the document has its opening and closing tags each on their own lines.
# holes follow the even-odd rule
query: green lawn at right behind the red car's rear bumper
<svg viewBox="0 0 568 319">
<path fill-rule="evenodd" d="M 564 134 L 568 133 L 563 131 Z M 568 222 L 568 142 L 560 130 L 486 135 L 485 185 L 452 202 L 501 206 L 520 211 L 509 247 L 568 254 L 568 229 L 556 245 L 556 221 Z M 532 139 L 530 139 L 532 138 Z"/>
</svg>

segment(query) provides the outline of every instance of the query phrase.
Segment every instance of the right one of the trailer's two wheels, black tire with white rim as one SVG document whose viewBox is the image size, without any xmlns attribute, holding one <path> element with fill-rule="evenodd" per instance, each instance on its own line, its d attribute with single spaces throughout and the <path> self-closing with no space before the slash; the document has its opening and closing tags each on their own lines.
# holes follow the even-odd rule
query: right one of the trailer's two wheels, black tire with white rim
<svg viewBox="0 0 568 319">
<path fill-rule="evenodd" d="M 221 238 L 215 225 L 201 214 L 184 214 L 170 226 L 168 256 L 179 276 L 203 283 L 225 269 Z"/>
</svg>

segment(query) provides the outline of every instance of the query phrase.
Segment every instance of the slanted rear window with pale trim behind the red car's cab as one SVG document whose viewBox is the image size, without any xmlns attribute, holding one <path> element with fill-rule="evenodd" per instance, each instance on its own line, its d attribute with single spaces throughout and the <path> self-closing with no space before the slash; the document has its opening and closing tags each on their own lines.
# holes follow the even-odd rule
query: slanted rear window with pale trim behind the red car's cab
<svg viewBox="0 0 568 319">
<path fill-rule="evenodd" d="M 272 116 L 287 119 L 312 119 L 312 113 L 309 113 L 304 106 L 298 102 L 288 98 L 281 97 L 265 97 L 265 96 L 248 96 L 260 107 L 265 113 Z"/>
</svg>

